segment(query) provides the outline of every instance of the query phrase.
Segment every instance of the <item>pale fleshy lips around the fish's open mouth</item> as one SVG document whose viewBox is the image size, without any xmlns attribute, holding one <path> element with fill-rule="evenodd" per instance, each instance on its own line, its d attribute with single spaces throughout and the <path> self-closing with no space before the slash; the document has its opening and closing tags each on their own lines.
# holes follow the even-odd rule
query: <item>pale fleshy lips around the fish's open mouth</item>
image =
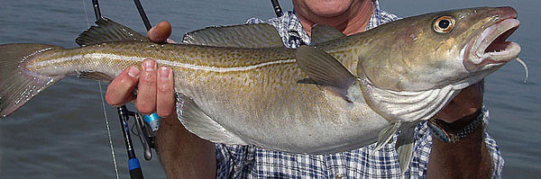
<svg viewBox="0 0 541 179">
<path fill-rule="evenodd" d="M 517 58 L 520 46 L 516 42 L 505 40 L 518 29 L 520 22 L 516 19 L 517 13 L 515 11 L 505 15 L 506 18 L 500 18 L 500 21 L 492 22 L 480 35 L 468 43 L 466 47 L 468 55 L 464 57 L 468 60 L 463 61 L 464 67 L 468 71 L 501 66 Z M 497 15 L 495 18 L 498 18 Z M 497 50 L 491 51 L 490 48 Z"/>
</svg>

